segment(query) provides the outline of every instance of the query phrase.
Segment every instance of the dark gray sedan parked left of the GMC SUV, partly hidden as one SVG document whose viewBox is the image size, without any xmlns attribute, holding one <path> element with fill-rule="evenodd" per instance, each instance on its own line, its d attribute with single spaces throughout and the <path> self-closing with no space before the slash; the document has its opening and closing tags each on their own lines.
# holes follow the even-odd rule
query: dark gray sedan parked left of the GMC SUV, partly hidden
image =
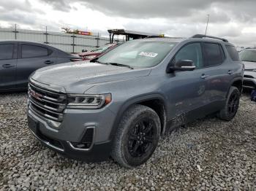
<svg viewBox="0 0 256 191">
<path fill-rule="evenodd" d="M 0 41 L 0 91 L 24 90 L 33 71 L 72 59 L 80 58 L 46 44 Z"/>
</svg>

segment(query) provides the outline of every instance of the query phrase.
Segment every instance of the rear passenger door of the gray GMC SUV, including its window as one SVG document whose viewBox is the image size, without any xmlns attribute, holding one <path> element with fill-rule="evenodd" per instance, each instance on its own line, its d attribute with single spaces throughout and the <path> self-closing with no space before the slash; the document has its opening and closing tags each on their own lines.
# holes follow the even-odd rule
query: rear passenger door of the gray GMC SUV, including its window
<svg viewBox="0 0 256 191">
<path fill-rule="evenodd" d="M 206 81 L 206 98 L 211 107 L 208 109 L 217 110 L 222 107 L 221 101 L 225 100 L 227 88 L 230 81 L 227 80 L 229 73 L 228 61 L 225 56 L 222 44 L 213 42 L 203 43 L 204 72 L 202 79 Z M 209 111 L 214 112 L 214 111 Z"/>
</svg>

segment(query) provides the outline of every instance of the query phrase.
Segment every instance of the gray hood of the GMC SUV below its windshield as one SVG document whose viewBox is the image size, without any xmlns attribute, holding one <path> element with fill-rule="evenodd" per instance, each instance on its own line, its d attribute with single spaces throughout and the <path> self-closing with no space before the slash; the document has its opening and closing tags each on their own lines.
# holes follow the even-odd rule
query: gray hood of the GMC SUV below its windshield
<svg viewBox="0 0 256 191">
<path fill-rule="evenodd" d="M 98 83 L 146 77 L 150 71 L 79 61 L 38 69 L 31 80 L 67 93 L 83 93 Z"/>
</svg>

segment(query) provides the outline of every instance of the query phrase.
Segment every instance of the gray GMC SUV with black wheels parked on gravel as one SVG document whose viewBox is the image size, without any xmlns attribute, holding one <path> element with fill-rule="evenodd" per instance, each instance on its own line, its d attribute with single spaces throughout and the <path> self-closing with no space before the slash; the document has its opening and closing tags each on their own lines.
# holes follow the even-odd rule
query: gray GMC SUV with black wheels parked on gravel
<svg viewBox="0 0 256 191">
<path fill-rule="evenodd" d="M 244 74 L 237 54 L 214 36 L 148 38 L 39 69 L 29 78 L 29 129 L 67 157 L 141 165 L 166 127 L 235 117 Z"/>
</svg>

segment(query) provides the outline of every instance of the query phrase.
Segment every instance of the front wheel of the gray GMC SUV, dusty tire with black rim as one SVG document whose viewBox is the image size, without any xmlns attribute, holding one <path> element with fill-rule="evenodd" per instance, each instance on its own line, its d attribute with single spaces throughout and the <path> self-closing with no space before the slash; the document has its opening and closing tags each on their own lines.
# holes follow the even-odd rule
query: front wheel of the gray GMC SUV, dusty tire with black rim
<svg viewBox="0 0 256 191">
<path fill-rule="evenodd" d="M 126 168 L 145 163 L 157 148 L 161 123 L 153 109 L 132 106 L 118 125 L 111 157 Z"/>
</svg>

